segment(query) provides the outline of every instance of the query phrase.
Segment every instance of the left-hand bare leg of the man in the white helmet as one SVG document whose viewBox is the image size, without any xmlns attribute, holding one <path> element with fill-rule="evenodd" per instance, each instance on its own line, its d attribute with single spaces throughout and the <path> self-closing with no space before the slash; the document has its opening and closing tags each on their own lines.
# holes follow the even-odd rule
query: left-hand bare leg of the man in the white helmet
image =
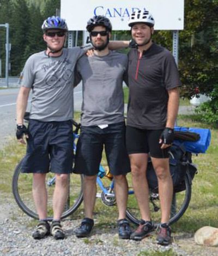
<svg viewBox="0 0 218 256">
<path fill-rule="evenodd" d="M 132 184 L 143 220 L 150 220 L 149 189 L 146 178 L 148 154 L 130 154 Z"/>
</svg>

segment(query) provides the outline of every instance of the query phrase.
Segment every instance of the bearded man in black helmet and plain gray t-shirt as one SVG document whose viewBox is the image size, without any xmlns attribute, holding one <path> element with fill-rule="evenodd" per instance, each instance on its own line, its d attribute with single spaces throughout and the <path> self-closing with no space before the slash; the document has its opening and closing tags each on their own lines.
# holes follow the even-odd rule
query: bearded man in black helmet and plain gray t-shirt
<svg viewBox="0 0 218 256">
<path fill-rule="evenodd" d="M 130 164 L 125 148 L 123 79 L 128 59 L 124 54 L 108 50 L 111 22 L 105 16 L 94 16 L 87 30 L 94 46 L 94 56 L 82 56 L 76 66 L 75 85 L 82 79 L 83 102 L 81 134 L 77 143 L 75 173 L 84 174 L 83 200 L 85 218 L 75 230 L 77 237 L 86 237 L 94 226 L 96 176 L 105 147 L 118 206 L 120 238 L 130 237 L 126 220 L 128 185 L 126 173 Z"/>
</svg>

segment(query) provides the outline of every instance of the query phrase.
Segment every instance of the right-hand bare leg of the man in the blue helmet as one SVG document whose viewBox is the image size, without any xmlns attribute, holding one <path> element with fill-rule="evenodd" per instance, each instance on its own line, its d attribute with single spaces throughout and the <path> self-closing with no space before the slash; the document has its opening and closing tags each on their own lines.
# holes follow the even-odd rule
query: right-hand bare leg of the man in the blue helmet
<svg viewBox="0 0 218 256">
<path fill-rule="evenodd" d="M 68 177 L 69 174 L 57 174 L 53 194 L 53 218 L 59 220 L 68 197 Z"/>
</svg>

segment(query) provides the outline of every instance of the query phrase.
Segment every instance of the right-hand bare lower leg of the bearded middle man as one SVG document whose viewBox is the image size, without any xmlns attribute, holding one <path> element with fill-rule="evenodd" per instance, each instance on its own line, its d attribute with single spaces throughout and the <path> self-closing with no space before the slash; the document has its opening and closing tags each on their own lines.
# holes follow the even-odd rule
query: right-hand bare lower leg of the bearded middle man
<svg viewBox="0 0 218 256">
<path fill-rule="evenodd" d="M 118 219 L 126 218 L 126 205 L 128 199 L 128 183 L 126 181 L 125 175 L 116 175 L 114 176 L 115 183 L 114 189 L 116 194 L 116 201 L 119 216 Z"/>
</svg>

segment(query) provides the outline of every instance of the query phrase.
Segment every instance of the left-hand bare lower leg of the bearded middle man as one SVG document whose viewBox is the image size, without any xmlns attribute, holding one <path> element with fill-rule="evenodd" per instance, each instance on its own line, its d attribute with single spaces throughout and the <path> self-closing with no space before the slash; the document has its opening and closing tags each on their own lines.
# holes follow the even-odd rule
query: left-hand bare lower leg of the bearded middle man
<svg viewBox="0 0 218 256">
<path fill-rule="evenodd" d="M 96 197 L 96 175 L 84 176 L 83 182 L 83 202 L 85 217 L 93 219 Z"/>
</svg>

